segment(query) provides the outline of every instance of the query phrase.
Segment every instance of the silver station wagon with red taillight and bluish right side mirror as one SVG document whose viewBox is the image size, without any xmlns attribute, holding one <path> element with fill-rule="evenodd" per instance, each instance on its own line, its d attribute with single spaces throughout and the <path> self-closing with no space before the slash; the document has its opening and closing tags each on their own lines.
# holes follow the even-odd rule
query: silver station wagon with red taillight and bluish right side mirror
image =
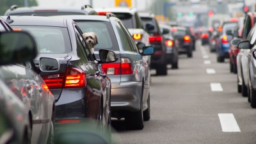
<svg viewBox="0 0 256 144">
<path fill-rule="evenodd" d="M 65 18 L 73 19 L 83 33 L 97 34 L 96 58 L 99 58 L 99 49 L 116 53 L 115 63 L 101 65 L 111 79 L 111 117 L 125 118 L 127 129 L 143 129 L 143 121 L 150 119 L 150 71 L 143 56 L 152 55 L 154 47 L 136 44 L 122 20 L 112 13 L 97 17 L 67 15 Z"/>
</svg>

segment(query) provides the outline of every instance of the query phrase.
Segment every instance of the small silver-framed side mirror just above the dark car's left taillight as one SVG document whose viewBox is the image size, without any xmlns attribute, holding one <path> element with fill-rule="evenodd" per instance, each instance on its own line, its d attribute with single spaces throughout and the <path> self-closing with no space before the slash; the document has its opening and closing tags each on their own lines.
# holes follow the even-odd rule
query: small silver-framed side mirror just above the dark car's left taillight
<svg viewBox="0 0 256 144">
<path fill-rule="evenodd" d="M 39 67 L 42 72 L 57 72 L 60 70 L 60 62 L 54 58 L 40 58 Z"/>
</svg>

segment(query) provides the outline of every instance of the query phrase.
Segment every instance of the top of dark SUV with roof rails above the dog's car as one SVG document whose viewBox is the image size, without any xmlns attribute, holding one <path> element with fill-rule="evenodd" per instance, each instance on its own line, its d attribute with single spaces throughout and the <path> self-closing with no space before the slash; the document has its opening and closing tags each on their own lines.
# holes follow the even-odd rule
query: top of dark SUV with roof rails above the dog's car
<svg viewBox="0 0 256 144">
<path fill-rule="evenodd" d="M 89 5 L 81 6 L 81 10 L 72 7 L 41 7 L 31 6 L 19 8 L 17 5 L 11 6 L 4 15 L 98 15 L 97 12 Z"/>
</svg>

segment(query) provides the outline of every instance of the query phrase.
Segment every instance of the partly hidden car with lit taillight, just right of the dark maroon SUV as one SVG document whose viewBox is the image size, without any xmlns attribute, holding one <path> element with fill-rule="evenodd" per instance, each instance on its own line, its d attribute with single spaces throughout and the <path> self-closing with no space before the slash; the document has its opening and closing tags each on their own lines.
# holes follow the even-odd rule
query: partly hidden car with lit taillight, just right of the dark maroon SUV
<svg viewBox="0 0 256 144">
<path fill-rule="evenodd" d="M 159 24 L 164 36 L 164 44 L 166 45 L 166 58 L 167 63 L 172 65 L 172 68 L 179 68 L 179 52 L 175 45 L 175 38 L 171 31 L 172 27 L 166 24 Z"/>
</svg>

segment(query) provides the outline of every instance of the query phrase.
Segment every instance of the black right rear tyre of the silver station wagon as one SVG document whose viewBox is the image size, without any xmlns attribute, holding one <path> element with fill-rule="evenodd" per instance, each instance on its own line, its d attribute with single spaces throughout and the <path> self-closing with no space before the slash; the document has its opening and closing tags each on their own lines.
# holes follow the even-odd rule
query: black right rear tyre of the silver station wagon
<svg viewBox="0 0 256 144">
<path fill-rule="evenodd" d="M 127 116 L 125 116 L 126 129 L 141 130 L 144 128 L 142 99 L 141 99 L 140 105 L 141 105 L 140 111 L 131 112 L 131 113 L 128 113 Z"/>
</svg>

